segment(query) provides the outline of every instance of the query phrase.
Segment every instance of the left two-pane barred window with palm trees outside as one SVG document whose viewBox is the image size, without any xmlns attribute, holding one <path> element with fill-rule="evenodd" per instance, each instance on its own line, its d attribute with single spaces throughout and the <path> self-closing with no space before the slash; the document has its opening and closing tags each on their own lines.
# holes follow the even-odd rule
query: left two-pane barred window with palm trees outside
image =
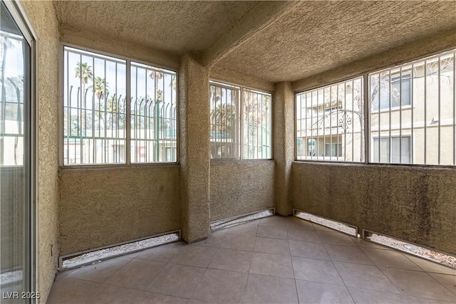
<svg viewBox="0 0 456 304">
<path fill-rule="evenodd" d="M 177 161 L 175 72 L 66 46 L 63 78 L 63 164 Z"/>
</svg>

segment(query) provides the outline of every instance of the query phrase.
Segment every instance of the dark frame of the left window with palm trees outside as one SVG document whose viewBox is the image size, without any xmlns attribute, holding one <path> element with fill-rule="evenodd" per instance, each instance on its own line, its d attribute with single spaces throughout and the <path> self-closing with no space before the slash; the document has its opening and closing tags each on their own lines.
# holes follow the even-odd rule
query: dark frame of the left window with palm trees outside
<svg viewBox="0 0 456 304">
<path fill-rule="evenodd" d="M 131 145 L 131 127 L 130 127 L 130 120 L 131 120 L 131 113 L 130 113 L 130 104 L 126 103 L 125 105 L 125 163 L 111 163 L 111 164 L 65 164 L 64 163 L 64 140 L 63 140 L 63 117 L 65 112 L 65 105 L 63 101 L 63 92 L 64 92 L 64 67 L 65 67 L 65 48 L 75 48 L 80 51 L 95 53 L 95 55 L 99 56 L 108 56 L 111 58 L 118 59 L 120 61 L 125 61 L 125 91 L 126 91 L 126 98 L 131 98 L 131 66 L 133 63 L 139 63 L 140 65 L 147 65 L 152 68 L 157 69 L 164 69 L 175 73 L 176 78 L 176 161 L 175 162 L 131 162 L 131 151 L 129 145 Z M 59 122 L 58 122 L 58 163 L 59 167 L 62 169 L 76 169 L 76 168 L 84 168 L 84 169 L 103 169 L 103 168 L 121 168 L 121 167 L 156 167 L 156 166 L 170 166 L 176 165 L 180 163 L 179 155 L 180 155 L 180 102 L 179 102 L 179 70 L 176 68 L 170 68 L 165 65 L 160 65 L 157 63 L 150 63 L 147 61 L 143 61 L 136 58 L 131 58 L 129 56 L 122 56 L 115 53 L 109 53 L 105 51 L 95 50 L 93 48 L 87 48 L 84 46 L 80 46 L 73 43 L 60 43 L 60 52 L 61 58 L 59 61 Z"/>
</svg>

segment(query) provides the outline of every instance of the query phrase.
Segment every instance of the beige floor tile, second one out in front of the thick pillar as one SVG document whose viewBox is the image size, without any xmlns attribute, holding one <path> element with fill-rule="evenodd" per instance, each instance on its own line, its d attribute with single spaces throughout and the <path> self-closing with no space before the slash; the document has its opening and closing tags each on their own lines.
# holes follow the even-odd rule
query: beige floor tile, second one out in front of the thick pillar
<svg viewBox="0 0 456 304">
<path fill-rule="evenodd" d="M 205 268 L 168 264 L 150 283 L 148 291 L 191 298 L 204 274 Z"/>
</svg>

